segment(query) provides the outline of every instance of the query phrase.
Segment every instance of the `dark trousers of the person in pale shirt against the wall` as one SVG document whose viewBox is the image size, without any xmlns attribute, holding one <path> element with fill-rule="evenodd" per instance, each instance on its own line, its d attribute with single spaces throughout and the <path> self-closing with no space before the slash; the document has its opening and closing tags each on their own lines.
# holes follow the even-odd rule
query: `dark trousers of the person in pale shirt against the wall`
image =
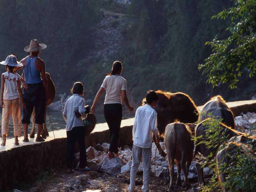
<svg viewBox="0 0 256 192">
<path fill-rule="evenodd" d="M 71 131 L 67 131 L 67 167 L 70 169 L 72 169 L 76 141 L 78 142 L 80 148 L 79 167 L 84 168 L 87 166 L 84 133 L 84 126 L 73 127 Z"/>
</svg>

